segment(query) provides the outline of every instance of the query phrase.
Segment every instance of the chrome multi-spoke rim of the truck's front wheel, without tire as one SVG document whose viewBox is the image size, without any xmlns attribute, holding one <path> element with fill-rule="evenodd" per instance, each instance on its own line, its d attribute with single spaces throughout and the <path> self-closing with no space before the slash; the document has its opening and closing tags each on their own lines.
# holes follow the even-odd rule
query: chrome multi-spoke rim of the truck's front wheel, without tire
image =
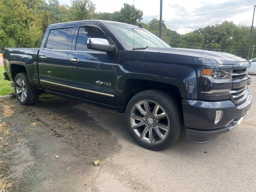
<svg viewBox="0 0 256 192">
<path fill-rule="evenodd" d="M 170 132 L 170 120 L 164 108 L 152 100 L 140 100 L 130 113 L 132 130 L 148 144 L 163 142 Z"/>
</svg>

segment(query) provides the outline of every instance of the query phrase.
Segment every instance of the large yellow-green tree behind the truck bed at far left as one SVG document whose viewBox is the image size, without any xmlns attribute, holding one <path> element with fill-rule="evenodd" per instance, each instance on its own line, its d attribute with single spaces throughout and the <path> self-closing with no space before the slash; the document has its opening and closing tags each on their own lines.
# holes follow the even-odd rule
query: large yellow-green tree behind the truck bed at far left
<svg viewBox="0 0 256 192">
<path fill-rule="evenodd" d="M 35 2 L 36 3 L 36 2 Z M 36 6 L 23 0 L 0 0 L 0 49 L 38 47 L 42 38 L 42 20 L 34 13 Z"/>
</svg>

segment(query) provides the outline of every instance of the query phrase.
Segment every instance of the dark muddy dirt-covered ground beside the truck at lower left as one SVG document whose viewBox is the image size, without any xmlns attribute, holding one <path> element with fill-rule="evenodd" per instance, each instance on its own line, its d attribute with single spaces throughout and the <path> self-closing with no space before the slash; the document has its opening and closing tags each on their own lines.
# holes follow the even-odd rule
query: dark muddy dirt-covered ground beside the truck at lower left
<svg viewBox="0 0 256 192">
<path fill-rule="evenodd" d="M 10 143 L 0 148 L 0 176 L 12 184 L 7 191 L 92 191 L 100 166 L 120 146 L 78 104 L 59 97 L 31 106 L 0 100 L 0 121 L 10 130 L 0 136 L 0 146 Z"/>
</svg>

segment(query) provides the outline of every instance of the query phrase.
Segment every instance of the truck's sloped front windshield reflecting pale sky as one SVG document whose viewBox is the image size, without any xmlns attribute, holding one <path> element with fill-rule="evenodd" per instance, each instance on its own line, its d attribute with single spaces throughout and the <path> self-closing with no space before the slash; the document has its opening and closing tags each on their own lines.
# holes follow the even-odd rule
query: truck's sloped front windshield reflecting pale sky
<svg viewBox="0 0 256 192">
<path fill-rule="evenodd" d="M 111 24 L 111 27 L 129 50 L 138 48 L 145 49 L 147 47 L 170 47 L 166 42 L 147 30 L 120 24 Z"/>
</svg>

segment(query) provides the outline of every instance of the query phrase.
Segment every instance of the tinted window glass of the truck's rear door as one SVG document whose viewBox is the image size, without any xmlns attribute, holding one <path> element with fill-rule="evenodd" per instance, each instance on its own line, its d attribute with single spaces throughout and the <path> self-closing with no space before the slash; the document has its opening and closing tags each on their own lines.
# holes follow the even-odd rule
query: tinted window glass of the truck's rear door
<svg viewBox="0 0 256 192">
<path fill-rule="evenodd" d="M 50 30 L 46 48 L 54 50 L 68 50 L 73 28 Z"/>
</svg>

